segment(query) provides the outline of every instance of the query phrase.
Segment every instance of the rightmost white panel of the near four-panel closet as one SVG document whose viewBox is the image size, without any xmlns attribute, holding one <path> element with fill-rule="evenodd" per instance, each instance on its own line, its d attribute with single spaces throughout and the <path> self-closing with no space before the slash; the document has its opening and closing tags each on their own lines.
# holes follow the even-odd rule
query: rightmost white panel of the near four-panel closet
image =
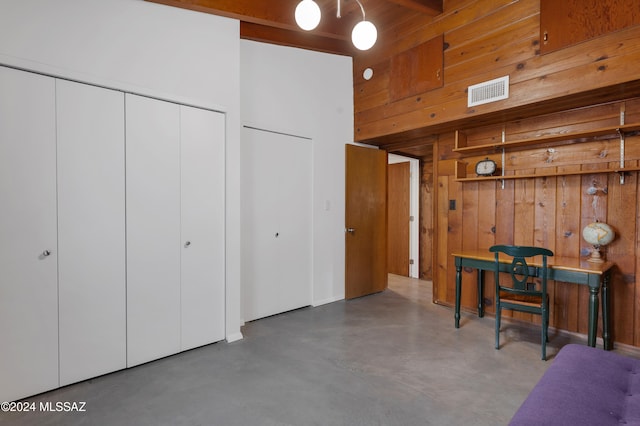
<svg viewBox="0 0 640 426">
<path fill-rule="evenodd" d="M 224 114 L 180 107 L 182 350 L 224 339 Z"/>
</svg>

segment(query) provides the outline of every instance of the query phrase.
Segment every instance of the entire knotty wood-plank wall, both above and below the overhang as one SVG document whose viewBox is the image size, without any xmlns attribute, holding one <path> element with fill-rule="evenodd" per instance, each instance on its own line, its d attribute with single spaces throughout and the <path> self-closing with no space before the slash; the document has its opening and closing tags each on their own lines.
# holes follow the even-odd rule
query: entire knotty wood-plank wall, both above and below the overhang
<svg viewBox="0 0 640 426">
<path fill-rule="evenodd" d="M 480 144 L 499 139 L 503 128 L 515 139 L 513 135 L 535 137 L 618 120 L 620 106 L 615 103 L 571 109 L 640 96 L 640 26 L 540 55 L 539 0 L 445 0 L 444 12 L 435 18 L 416 14 L 379 31 L 376 46 L 354 57 L 355 139 L 405 152 L 414 142 L 437 140 L 434 156 L 423 159 L 423 180 L 431 177 L 433 185 L 433 205 L 426 206 L 433 212 L 432 238 L 421 232 L 421 249 L 433 253 L 434 300 L 453 304 L 452 250 L 500 242 L 543 245 L 558 255 L 585 255 L 588 246 L 581 230 L 597 217 L 620 232 L 607 248 L 617 265 L 612 283 L 614 339 L 640 346 L 638 173 L 629 173 L 624 185 L 616 174 L 597 173 L 615 162 L 619 142 L 567 141 L 556 151 L 544 146 L 518 151 L 508 158 L 511 173 L 551 170 L 558 176 L 506 180 L 504 189 L 496 182 L 457 182 L 453 174 L 459 155 L 452 151 L 457 128 L 471 131 L 473 143 Z M 391 59 L 441 34 L 443 86 L 394 101 L 388 90 Z M 362 78 L 367 67 L 374 70 L 369 81 Z M 467 108 L 469 85 L 505 75 L 510 76 L 509 99 Z M 626 122 L 640 123 L 638 100 L 626 107 Z M 637 136 L 627 140 L 630 166 L 640 160 L 634 147 L 638 142 Z M 594 173 L 562 175 L 573 170 Z M 607 193 L 587 194 L 592 186 L 606 188 Z M 455 210 L 449 210 L 451 201 Z M 423 207 L 421 221 L 428 223 L 425 215 Z M 474 309 L 474 277 L 470 272 L 463 276 L 463 306 Z M 491 303 L 492 295 L 487 297 Z M 586 289 L 554 283 L 552 297 L 552 326 L 586 334 Z"/>
</svg>

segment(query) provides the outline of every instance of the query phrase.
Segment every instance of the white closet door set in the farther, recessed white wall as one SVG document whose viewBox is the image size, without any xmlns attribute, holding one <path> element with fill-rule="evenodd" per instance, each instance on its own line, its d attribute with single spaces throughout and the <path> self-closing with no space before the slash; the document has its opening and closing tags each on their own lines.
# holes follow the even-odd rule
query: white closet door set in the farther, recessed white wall
<svg viewBox="0 0 640 426">
<path fill-rule="evenodd" d="M 311 141 L 245 128 L 242 136 L 245 321 L 311 303 Z"/>
</svg>

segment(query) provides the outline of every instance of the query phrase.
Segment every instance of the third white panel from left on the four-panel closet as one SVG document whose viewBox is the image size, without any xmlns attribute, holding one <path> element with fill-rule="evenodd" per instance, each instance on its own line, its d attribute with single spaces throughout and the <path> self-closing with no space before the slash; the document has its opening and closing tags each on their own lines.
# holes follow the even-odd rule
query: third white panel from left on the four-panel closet
<svg viewBox="0 0 640 426">
<path fill-rule="evenodd" d="M 179 109 L 126 95 L 128 366 L 180 351 Z"/>
</svg>

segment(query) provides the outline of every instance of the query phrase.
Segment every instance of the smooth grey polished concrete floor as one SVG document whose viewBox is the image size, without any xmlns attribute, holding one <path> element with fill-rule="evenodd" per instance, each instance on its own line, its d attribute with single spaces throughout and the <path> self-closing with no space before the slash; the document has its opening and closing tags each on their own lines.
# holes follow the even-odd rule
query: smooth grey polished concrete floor
<svg viewBox="0 0 640 426">
<path fill-rule="evenodd" d="M 248 323 L 217 343 L 44 393 L 85 412 L 0 413 L 2 425 L 505 425 L 566 338 L 431 302 L 431 284 Z"/>
</svg>

